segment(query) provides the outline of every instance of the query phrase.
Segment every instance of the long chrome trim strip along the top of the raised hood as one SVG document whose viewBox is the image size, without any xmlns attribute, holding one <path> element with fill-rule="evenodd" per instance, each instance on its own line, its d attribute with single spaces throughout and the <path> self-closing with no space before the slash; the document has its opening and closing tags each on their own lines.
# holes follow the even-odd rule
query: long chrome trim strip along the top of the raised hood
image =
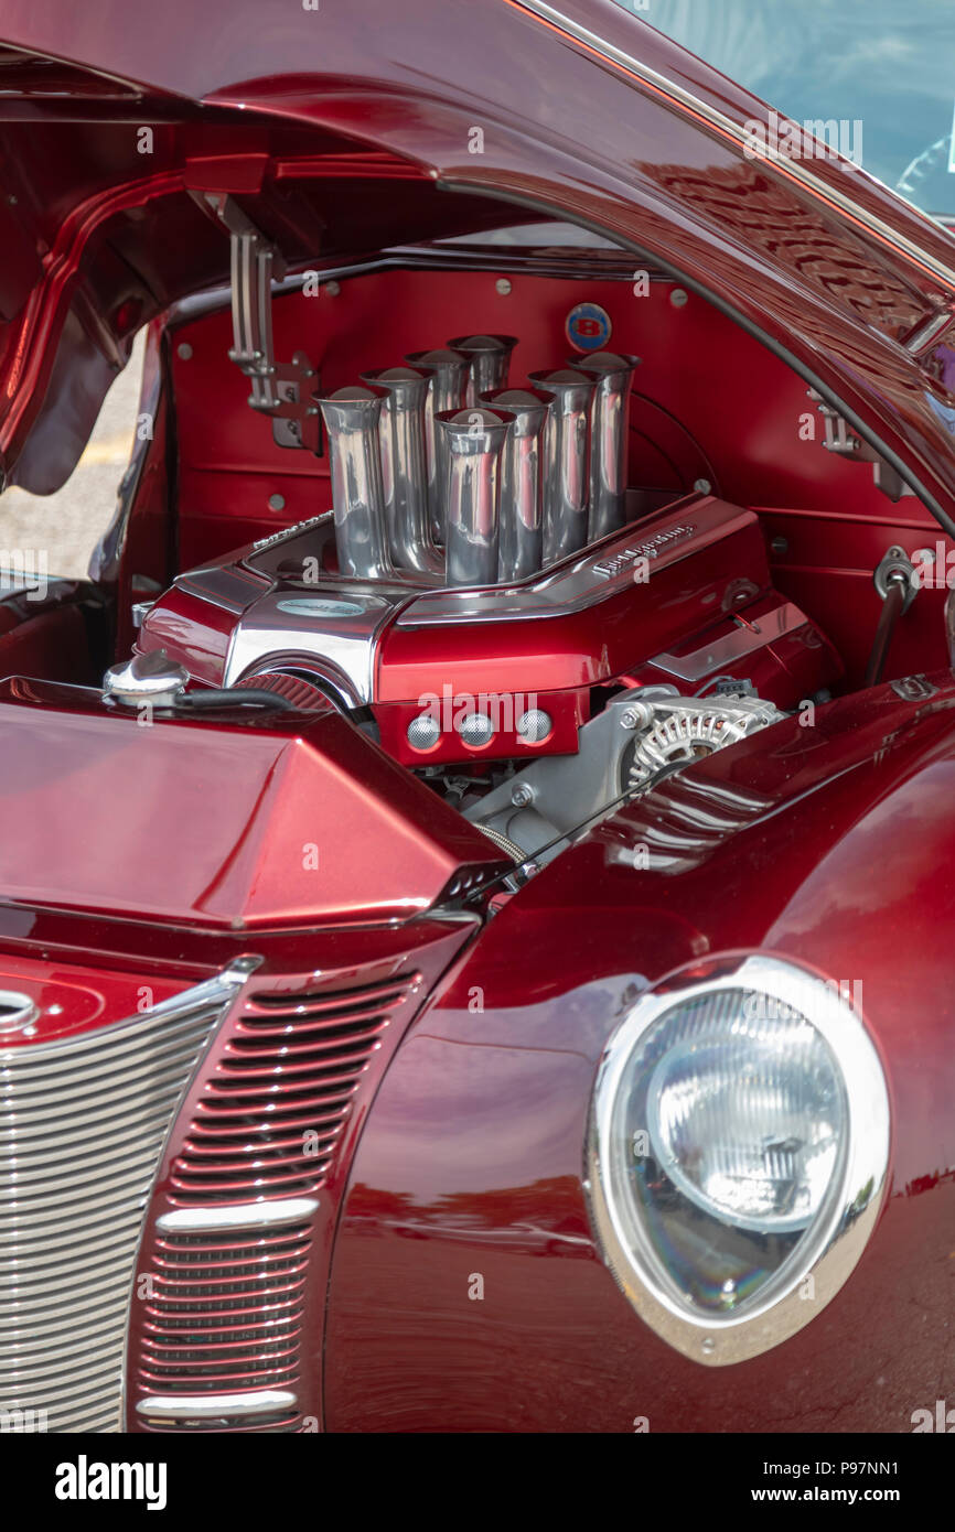
<svg viewBox="0 0 955 1532">
<path fill-rule="evenodd" d="M 572 37 L 575 41 L 583 43 L 586 47 L 593 49 L 593 52 L 599 54 L 601 58 L 605 58 L 607 63 L 616 64 L 621 69 L 627 69 L 630 74 L 638 75 L 647 84 L 651 84 L 658 90 L 662 90 L 673 100 L 676 106 L 681 106 L 685 110 L 704 116 L 713 127 L 719 129 L 722 133 L 727 133 L 740 147 L 750 142 L 750 136 L 743 132 L 743 129 L 737 123 L 733 121 L 733 118 L 725 116 L 716 107 L 708 106 L 705 101 L 701 101 L 690 90 L 685 90 L 682 86 L 674 84 L 665 75 L 658 74 L 656 69 L 650 69 L 638 58 L 633 58 L 632 54 L 625 54 L 621 47 L 615 47 L 612 43 L 604 41 L 604 38 L 598 37 L 596 32 L 590 32 L 586 26 L 581 26 L 578 21 L 572 21 L 555 6 L 546 5 L 544 0 L 510 0 L 510 3 L 517 5 L 523 11 L 529 11 L 532 15 L 537 15 L 544 21 L 550 21 L 552 26 L 566 32 L 567 37 Z M 886 241 L 886 244 L 889 244 L 900 254 L 904 254 L 911 260 L 917 262 L 920 267 L 930 270 L 934 276 L 937 276 L 940 280 L 943 280 L 947 286 L 950 286 L 955 291 L 955 268 L 943 265 L 941 260 L 937 260 L 927 251 L 921 250 L 921 247 L 914 244 L 914 241 L 911 241 L 906 234 L 900 234 L 888 224 L 883 224 L 883 221 L 877 218 L 875 213 L 869 213 L 866 208 L 860 207 L 858 202 L 846 196 L 843 192 L 838 192 L 835 187 L 831 187 L 826 181 L 820 181 L 820 178 L 814 176 L 811 170 L 806 170 L 805 161 L 789 159 L 788 155 L 783 155 L 776 149 L 770 149 L 770 146 L 766 146 L 766 149 L 760 152 L 759 161 L 768 165 L 785 167 L 786 175 L 799 181 L 806 188 L 806 192 L 812 193 L 812 196 L 822 198 L 828 202 L 834 202 L 843 213 L 848 213 L 852 218 L 855 218 L 874 234 L 878 234 L 880 239 Z M 851 159 L 840 161 L 840 164 L 845 170 L 855 169 Z M 930 224 L 932 233 L 938 231 L 938 225 L 935 225 L 935 222 L 929 219 L 927 214 L 921 213 L 920 208 L 914 207 L 912 204 L 906 204 L 906 207 L 909 207 L 909 211 L 914 211 L 917 216 L 923 218 L 926 224 Z"/>
</svg>

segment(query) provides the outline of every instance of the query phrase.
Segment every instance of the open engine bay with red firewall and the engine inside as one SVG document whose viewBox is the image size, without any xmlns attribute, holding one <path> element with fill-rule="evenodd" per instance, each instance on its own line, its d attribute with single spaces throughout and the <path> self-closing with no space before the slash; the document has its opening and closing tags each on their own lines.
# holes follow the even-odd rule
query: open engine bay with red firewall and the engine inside
<svg viewBox="0 0 955 1532">
<path fill-rule="evenodd" d="M 514 890 L 673 772 L 865 680 L 874 574 L 907 581 L 921 507 L 707 305 L 645 273 L 635 302 L 612 247 L 455 270 L 432 245 L 276 290 L 268 241 L 225 222 L 230 300 L 167 319 L 156 432 L 98 556 L 109 706 L 339 714 Z M 722 453 L 720 346 L 743 417 Z M 944 657 L 937 591 L 900 614 L 878 674 L 889 640 L 897 666 Z"/>
</svg>

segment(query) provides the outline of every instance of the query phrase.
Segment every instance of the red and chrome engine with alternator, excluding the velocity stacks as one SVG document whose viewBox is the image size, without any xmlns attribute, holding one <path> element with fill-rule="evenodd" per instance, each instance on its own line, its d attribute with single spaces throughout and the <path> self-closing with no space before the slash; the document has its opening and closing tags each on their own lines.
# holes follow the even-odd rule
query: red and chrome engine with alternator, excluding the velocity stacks
<svg viewBox="0 0 955 1532">
<path fill-rule="evenodd" d="M 842 671 L 773 590 L 759 519 L 708 495 L 635 516 L 517 584 L 343 579 L 334 533 L 325 516 L 182 576 L 146 616 L 138 651 L 193 679 L 198 636 L 225 625 L 204 685 L 285 685 L 299 705 L 359 717 L 515 858 L 825 700 Z"/>
</svg>

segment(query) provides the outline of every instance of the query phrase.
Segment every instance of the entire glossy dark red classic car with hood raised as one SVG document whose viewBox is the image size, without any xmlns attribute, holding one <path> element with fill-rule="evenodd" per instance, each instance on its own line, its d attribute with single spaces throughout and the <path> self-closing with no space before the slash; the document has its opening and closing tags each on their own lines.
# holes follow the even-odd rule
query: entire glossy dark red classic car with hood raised
<svg viewBox="0 0 955 1532">
<path fill-rule="evenodd" d="M 955 244 L 612 0 L 5 0 L 0 1414 L 911 1431 Z"/>
</svg>

